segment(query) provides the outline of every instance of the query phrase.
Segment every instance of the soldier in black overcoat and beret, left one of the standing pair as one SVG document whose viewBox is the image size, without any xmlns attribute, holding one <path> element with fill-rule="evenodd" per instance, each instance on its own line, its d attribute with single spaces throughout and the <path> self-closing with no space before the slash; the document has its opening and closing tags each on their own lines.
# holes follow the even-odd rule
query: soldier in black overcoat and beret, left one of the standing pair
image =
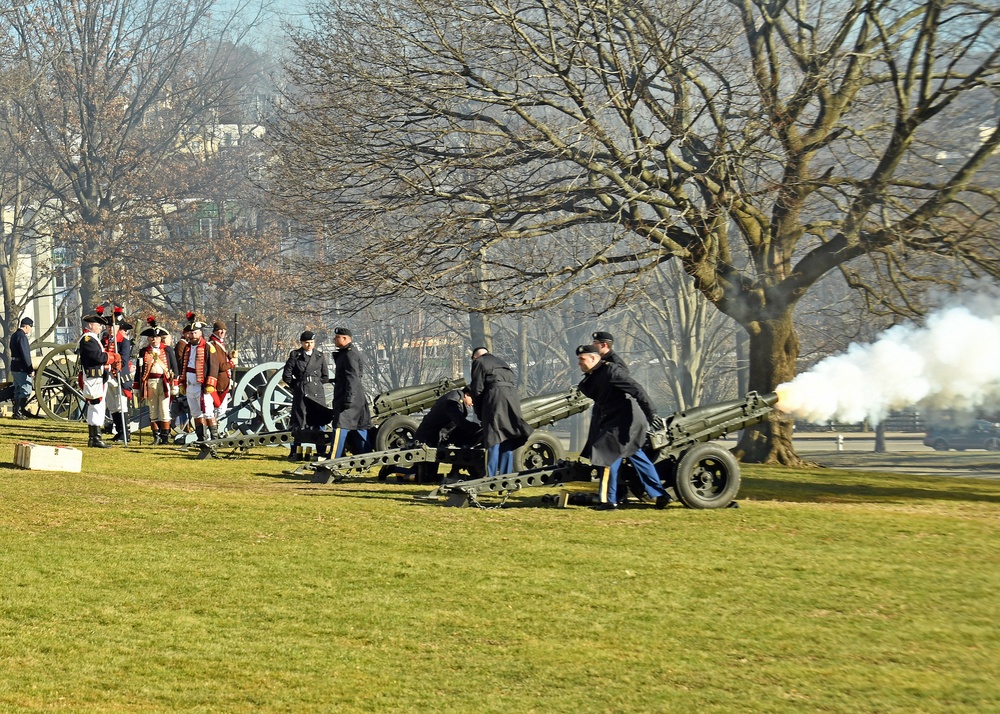
<svg viewBox="0 0 1000 714">
<path fill-rule="evenodd" d="M 302 345 L 292 350 L 285 362 L 281 379 L 292 390 L 292 451 L 290 460 L 300 457 L 303 437 L 315 441 L 319 456 L 325 456 L 326 435 L 323 426 L 330 423 L 332 412 L 326 405 L 324 385 L 330 381 L 326 355 L 316 349 L 316 334 L 306 330 L 299 335 Z M 311 433 L 310 433 L 311 432 Z"/>
</svg>

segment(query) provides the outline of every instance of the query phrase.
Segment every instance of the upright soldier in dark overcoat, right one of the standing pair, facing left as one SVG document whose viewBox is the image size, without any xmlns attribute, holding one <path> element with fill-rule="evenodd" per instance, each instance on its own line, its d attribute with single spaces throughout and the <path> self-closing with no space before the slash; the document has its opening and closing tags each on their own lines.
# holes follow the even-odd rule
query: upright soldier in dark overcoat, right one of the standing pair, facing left
<svg viewBox="0 0 1000 714">
<path fill-rule="evenodd" d="M 368 409 L 365 387 L 361 381 L 364 376 L 365 361 L 354 346 L 354 336 L 346 327 L 338 327 L 334 330 L 333 344 L 337 346 L 337 351 L 333 353 L 336 373 L 333 383 L 333 436 L 330 456 L 339 459 L 344 455 L 344 445 L 351 432 L 354 432 L 360 441 L 355 445 L 354 453 L 371 451 L 368 444 L 368 430 L 372 425 L 372 417 Z"/>
</svg>

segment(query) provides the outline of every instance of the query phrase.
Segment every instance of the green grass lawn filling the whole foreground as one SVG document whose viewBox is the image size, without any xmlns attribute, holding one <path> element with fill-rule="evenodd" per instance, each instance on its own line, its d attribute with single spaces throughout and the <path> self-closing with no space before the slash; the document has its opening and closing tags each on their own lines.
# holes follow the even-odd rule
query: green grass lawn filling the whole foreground
<svg viewBox="0 0 1000 714">
<path fill-rule="evenodd" d="M 84 427 L 0 429 L 0 711 L 1000 710 L 997 481 L 746 467 L 739 509 L 478 511 L 267 449 L 24 471 L 15 441 Z"/>
</svg>

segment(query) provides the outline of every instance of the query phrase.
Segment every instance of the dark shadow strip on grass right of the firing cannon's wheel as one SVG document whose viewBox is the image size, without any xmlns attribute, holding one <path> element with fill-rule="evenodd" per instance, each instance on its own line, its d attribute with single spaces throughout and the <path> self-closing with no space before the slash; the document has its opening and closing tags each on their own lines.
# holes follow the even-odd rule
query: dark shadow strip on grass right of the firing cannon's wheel
<svg viewBox="0 0 1000 714">
<path fill-rule="evenodd" d="M 758 501 L 795 503 L 901 503 L 904 501 L 969 501 L 1000 503 L 1000 486 L 986 483 L 935 482 L 933 487 L 878 485 L 833 480 L 787 481 L 777 478 L 743 479 L 740 494 Z"/>
</svg>

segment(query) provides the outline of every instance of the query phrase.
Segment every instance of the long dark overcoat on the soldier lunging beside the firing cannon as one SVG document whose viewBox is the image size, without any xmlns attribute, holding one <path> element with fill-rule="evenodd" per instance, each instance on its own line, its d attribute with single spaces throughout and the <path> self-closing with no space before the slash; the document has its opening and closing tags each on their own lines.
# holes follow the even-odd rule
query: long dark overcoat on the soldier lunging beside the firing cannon
<svg viewBox="0 0 1000 714">
<path fill-rule="evenodd" d="M 646 390 L 627 371 L 601 361 L 584 375 L 579 387 L 594 400 L 590 434 L 581 456 L 595 466 L 611 466 L 642 448 L 655 411 Z"/>
</svg>

